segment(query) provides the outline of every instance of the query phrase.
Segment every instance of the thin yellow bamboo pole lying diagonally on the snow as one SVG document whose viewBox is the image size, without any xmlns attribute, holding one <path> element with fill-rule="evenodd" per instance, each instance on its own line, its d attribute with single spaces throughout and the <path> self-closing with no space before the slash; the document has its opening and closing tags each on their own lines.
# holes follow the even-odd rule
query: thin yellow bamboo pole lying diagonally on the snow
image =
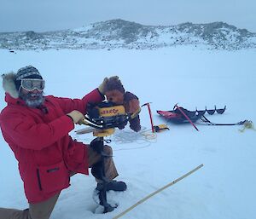
<svg viewBox="0 0 256 219">
<path fill-rule="evenodd" d="M 201 164 L 197 167 L 195 167 L 195 169 L 190 170 L 188 173 L 184 174 L 183 176 L 180 176 L 179 178 L 177 178 L 175 181 L 168 183 L 165 187 L 161 187 L 160 189 L 156 190 L 154 193 L 149 194 L 147 197 L 139 200 L 136 204 L 132 205 L 130 208 L 126 209 L 125 211 L 121 212 L 118 216 L 113 217 L 113 219 L 118 219 L 121 216 L 124 216 L 127 212 L 129 212 L 130 210 L 134 209 L 137 205 L 142 204 L 144 201 L 146 201 L 147 199 L 151 198 L 152 196 L 154 196 L 156 193 L 160 193 L 161 191 L 163 191 L 164 189 L 166 189 L 166 187 L 171 187 L 172 185 L 174 185 L 176 182 L 181 181 L 183 178 L 189 176 L 190 174 L 194 173 L 196 170 L 199 170 L 204 164 Z"/>
</svg>

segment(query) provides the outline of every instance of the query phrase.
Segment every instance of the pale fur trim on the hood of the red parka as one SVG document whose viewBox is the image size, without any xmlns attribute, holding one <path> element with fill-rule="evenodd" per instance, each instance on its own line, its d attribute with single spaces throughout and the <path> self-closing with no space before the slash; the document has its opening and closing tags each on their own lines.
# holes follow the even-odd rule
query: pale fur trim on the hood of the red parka
<svg viewBox="0 0 256 219">
<path fill-rule="evenodd" d="M 18 98 L 19 93 L 15 87 L 15 72 L 9 72 L 7 74 L 3 74 L 3 89 L 6 93 L 11 95 L 13 98 Z"/>
</svg>

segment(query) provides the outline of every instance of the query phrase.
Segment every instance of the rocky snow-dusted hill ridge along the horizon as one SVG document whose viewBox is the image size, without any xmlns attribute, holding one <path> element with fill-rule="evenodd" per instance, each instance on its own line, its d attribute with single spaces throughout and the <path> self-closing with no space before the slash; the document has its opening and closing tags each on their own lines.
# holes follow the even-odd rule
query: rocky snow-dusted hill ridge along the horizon
<svg viewBox="0 0 256 219">
<path fill-rule="evenodd" d="M 157 49 L 177 45 L 206 49 L 256 48 L 256 33 L 224 22 L 143 26 L 125 20 L 97 22 L 56 32 L 2 32 L 0 49 Z"/>
</svg>

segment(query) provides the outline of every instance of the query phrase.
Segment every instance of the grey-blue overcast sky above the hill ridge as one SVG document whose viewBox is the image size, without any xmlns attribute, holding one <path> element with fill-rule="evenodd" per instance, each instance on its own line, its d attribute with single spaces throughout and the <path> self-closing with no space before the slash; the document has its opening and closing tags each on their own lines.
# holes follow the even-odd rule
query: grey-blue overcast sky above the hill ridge
<svg viewBox="0 0 256 219">
<path fill-rule="evenodd" d="M 0 32 L 73 29 L 118 18 L 144 25 L 224 21 L 256 32 L 256 0 L 0 0 Z"/>
</svg>

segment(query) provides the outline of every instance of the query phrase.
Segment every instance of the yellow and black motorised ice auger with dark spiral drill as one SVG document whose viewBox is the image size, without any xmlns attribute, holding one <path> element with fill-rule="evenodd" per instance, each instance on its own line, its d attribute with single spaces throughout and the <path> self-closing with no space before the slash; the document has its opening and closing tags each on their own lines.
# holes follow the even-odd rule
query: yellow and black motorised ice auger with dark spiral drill
<svg viewBox="0 0 256 219">
<path fill-rule="evenodd" d="M 109 182 L 108 178 L 105 176 L 105 165 L 104 160 L 109 158 L 109 156 L 103 152 L 104 147 L 104 137 L 112 135 L 114 128 L 118 127 L 120 124 L 126 123 L 129 119 L 135 118 L 140 109 L 133 114 L 125 112 L 124 106 L 113 106 L 112 103 L 102 102 L 98 105 L 87 106 L 87 114 L 84 116 L 82 121 L 79 121 L 80 124 L 89 125 L 93 128 L 93 135 L 96 138 L 90 142 L 90 146 L 93 147 L 97 153 L 100 153 L 102 159 L 98 166 L 101 170 L 99 179 L 102 180 L 102 187 L 99 190 L 99 199 L 100 205 L 104 207 L 103 213 L 110 212 L 114 210 L 117 205 L 112 206 L 108 204 L 107 201 L 107 184 Z M 81 132 L 79 133 L 81 134 Z M 98 167 L 99 168 L 99 167 Z"/>
</svg>

